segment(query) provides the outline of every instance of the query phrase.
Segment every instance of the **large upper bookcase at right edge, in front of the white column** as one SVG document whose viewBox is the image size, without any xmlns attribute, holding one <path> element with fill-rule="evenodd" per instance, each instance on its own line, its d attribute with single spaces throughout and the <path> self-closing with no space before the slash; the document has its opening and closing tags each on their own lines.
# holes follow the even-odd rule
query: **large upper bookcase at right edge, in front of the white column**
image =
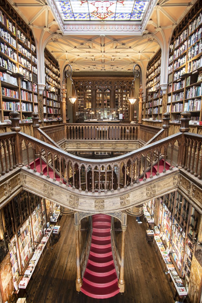
<svg viewBox="0 0 202 303">
<path fill-rule="evenodd" d="M 180 113 L 191 112 L 190 124 L 202 118 L 202 13 L 182 22 L 171 38 L 168 66 L 167 112 L 171 121 L 179 122 Z M 182 28 L 183 27 L 183 28 Z"/>
</svg>

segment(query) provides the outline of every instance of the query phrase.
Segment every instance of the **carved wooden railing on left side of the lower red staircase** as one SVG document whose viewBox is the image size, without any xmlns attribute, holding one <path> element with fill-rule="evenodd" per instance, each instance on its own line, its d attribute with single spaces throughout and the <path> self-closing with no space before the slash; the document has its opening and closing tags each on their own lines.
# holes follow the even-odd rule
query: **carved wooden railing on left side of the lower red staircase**
<svg viewBox="0 0 202 303">
<path fill-rule="evenodd" d="M 80 268 L 81 268 L 81 277 L 83 279 L 83 275 L 85 273 L 86 270 L 86 265 L 87 265 L 87 261 L 88 261 L 88 257 L 89 257 L 89 253 L 90 253 L 90 247 L 91 247 L 91 240 L 92 240 L 92 216 L 89 216 L 89 228 L 88 228 L 88 235 L 86 238 L 86 243 L 83 246 L 83 251 L 81 253 L 80 256 Z"/>
</svg>

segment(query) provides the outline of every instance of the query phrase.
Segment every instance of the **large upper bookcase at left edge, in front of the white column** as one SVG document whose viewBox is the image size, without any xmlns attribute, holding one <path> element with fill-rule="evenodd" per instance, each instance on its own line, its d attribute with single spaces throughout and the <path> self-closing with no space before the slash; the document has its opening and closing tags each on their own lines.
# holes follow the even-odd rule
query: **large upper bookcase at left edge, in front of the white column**
<svg viewBox="0 0 202 303">
<path fill-rule="evenodd" d="M 9 11 L 10 12 L 10 11 Z M 23 25 L 23 23 L 22 23 Z M 23 26 L 25 29 L 28 26 Z M 31 33 L 29 30 L 27 31 Z M 15 22 L 10 13 L 0 10 L 0 120 L 18 111 L 21 121 L 38 112 L 37 56 L 34 39 Z"/>
</svg>

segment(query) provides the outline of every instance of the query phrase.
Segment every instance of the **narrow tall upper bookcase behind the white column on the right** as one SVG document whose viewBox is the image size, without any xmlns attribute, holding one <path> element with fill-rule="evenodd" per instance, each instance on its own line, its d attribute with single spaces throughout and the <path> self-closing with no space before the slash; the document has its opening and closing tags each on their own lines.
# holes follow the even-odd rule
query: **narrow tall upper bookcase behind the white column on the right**
<svg viewBox="0 0 202 303">
<path fill-rule="evenodd" d="M 161 49 L 149 61 L 146 78 L 145 117 L 150 121 L 161 122 L 162 91 L 160 88 Z"/>
</svg>

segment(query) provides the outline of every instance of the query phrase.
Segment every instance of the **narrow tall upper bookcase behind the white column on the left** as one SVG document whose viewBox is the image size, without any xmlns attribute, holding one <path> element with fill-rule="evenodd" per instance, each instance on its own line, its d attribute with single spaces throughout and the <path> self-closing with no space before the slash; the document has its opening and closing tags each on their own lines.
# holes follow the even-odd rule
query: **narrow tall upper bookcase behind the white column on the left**
<svg viewBox="0 0 202 303">
<path fill-rule="evenodd" d="M 60 69 L 57 60 L 44 51 L 46 88 L 43 92 L 44 121 L 60 116 Z"/>
</svg>

